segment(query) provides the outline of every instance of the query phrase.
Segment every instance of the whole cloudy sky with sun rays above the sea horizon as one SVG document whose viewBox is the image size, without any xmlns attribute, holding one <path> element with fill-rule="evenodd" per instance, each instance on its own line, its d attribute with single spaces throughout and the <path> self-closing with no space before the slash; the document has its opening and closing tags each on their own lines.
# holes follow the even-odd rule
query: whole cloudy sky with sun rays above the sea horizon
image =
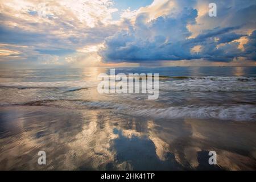
<svg viewBox="0 0 256 182">
<path fill-rule="evenodd" d="M 0 68 L 256 66 L 255 51 L 253 0 L 0 0 Z"/>
</svg>

